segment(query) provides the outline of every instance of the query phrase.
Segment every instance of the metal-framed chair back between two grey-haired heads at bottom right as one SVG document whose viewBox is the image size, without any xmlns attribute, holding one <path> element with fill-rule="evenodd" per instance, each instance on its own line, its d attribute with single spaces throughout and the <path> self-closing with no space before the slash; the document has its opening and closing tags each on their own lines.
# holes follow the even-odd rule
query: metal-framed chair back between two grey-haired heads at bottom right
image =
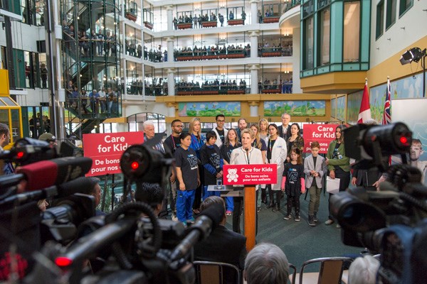
<svg viewBox="0 0 427 284">
<path fill-rule="evenodd" d="M 335 284 L 341 283 L 344 263 L 352 262 L 348 257 L 313 258 L 302 264 L 300 273 L 297 273 L 295 280 L 299 284 Z M 312 263 L 319 263 L 319 272 L 305 273 L 306 266 Z"/>
</svg>

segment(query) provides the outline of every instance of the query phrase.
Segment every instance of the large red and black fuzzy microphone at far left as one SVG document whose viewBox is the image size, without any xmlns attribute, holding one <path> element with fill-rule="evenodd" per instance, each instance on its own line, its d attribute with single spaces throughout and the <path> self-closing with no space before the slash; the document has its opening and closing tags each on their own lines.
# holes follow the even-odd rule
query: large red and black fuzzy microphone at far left
<svg viewBox="0 0 427 284">
<path fill-rule="evenodd" d="M 65 157 L 24 165 L 17 168 L 16 173 L 25 175 L 25 190 L 32 191 L 83 177 L 91 167 L 91 158 Z"/>
</svg>

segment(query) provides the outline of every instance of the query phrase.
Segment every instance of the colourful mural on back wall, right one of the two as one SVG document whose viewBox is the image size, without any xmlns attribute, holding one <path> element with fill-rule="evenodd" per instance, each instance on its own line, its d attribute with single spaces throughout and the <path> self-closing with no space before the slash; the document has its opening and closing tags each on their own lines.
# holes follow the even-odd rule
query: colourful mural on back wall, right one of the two
<svg viewBox="0 0 427 284">
<path fill-rule="evenodd" d="M 264 116 L 325 116 L 326 102 L 320 101 L 268 101 L 264 102 Z"/>
</svg>

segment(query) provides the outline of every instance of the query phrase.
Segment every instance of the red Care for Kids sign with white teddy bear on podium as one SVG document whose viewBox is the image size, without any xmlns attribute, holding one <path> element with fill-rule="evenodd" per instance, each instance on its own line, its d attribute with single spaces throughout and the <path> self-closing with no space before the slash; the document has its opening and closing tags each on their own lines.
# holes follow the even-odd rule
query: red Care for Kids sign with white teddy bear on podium
<svg viewBox="0 0 427 284">
<path fill-rule="evenodd" d="M 278 165 L 224 165 L 224 185 L 261 185 L 278 181 Z"/>
</svg>

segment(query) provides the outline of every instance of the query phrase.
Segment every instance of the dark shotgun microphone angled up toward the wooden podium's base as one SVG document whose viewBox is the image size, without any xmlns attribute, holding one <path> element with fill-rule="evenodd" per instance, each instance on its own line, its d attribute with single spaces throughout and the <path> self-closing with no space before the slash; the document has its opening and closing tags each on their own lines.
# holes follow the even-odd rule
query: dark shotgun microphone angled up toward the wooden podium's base
<svg viewBox="0 0 427 284">
<path fill-rule="evenodd" d="M 194 221 L 194 225 L 189 228 L 189 234 L 172 251 L 171 260 L 176 261 L 186 256 L 198 241 L 206 239 L 211 234 L 211 231 L 221 222 L 224 214 L 226 212 L 221 204 L 213 203 L 204 209 Z"/>
</svg>

